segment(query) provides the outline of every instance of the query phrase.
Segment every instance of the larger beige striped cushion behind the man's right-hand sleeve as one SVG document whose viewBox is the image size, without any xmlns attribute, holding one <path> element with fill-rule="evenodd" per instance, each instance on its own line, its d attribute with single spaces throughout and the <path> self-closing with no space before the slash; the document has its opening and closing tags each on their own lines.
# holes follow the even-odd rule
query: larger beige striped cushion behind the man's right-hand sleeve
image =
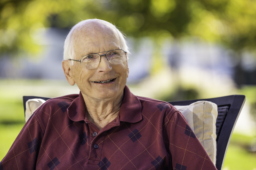
<svg viewBox="0 0 256 170">
<path fill-rule="evenodd" d="M 189 126 L 215 164 L 217 105 L 210 101 L 197 101 L 188 106 L 174 107 L 186 118 Z"/>
</svg>

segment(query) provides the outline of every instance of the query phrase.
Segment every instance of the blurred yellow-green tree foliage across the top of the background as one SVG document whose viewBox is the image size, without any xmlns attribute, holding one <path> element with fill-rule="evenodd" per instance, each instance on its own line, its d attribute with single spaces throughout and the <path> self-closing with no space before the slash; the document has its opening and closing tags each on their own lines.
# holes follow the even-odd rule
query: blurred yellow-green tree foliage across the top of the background
<svg viewBox="0 0 256 170">
<path fill-rule="evenodd" d="M 255 50 L 254 0 L 1 0 L 0 52 L 36 53 L 38 29 L 70 28 L 99 18 L 130 37 L 195 36 L 240 51 Z M 16 55 L 14 55 L 16 56 Z"/>
</svg>

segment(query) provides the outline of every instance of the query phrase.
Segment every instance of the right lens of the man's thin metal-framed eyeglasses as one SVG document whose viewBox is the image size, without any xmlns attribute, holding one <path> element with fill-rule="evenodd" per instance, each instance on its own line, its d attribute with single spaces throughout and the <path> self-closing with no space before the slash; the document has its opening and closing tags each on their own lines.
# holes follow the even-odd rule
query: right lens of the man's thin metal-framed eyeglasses
<svg viewBox="0 0 256 170">
<path fill-rule="evenodd" d="M 125 61 L 125 52 L 123 50 L 112 50 L 106 54 L 108 61 L 112 64 L 121 64 Z"/>
</svg>

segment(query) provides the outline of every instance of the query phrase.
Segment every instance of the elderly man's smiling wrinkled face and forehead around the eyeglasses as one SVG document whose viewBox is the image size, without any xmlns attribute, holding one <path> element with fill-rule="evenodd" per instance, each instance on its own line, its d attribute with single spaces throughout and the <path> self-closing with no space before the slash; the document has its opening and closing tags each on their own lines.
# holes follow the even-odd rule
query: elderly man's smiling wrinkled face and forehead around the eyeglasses
<svg viewBox="0 0 256 170">
<path fill-rule="evenodd" d="M 114 31 L 106 26 L 97 26 L 86 25 L 87 29 L 80 29 L 73 35 L 74 59 L 79 60 L 87 54 L 106 54 L 104 51 L 121 49 Z M 70 73 L 84 98 L 114 100 L 123 95 L 129 69 L 127 59 L 121 64 L 111 64 L 102 56 L 98 68 L 88 70 L 82 63 L 74 61 L 70 66 Z"/>
</svg>

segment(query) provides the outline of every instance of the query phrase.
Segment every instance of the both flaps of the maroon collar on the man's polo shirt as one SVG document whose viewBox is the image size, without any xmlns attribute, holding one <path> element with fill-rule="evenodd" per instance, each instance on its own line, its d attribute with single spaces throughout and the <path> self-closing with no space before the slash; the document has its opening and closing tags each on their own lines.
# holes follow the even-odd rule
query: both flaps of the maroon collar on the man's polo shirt
<svg viewBox="0 0 256 170">
<path fill-rule="evenodd" d="M 124 98 L 119 111 L 119 121 L 136 123 L 142 120 L 142 106 L 139 98 L 133 95 L 129 88 L 124 88 Z M 67 108 L 69 118 L 75 122 L 85 121 L 86 112 L 82 93 L 76 97 Z"/>
</svg>

